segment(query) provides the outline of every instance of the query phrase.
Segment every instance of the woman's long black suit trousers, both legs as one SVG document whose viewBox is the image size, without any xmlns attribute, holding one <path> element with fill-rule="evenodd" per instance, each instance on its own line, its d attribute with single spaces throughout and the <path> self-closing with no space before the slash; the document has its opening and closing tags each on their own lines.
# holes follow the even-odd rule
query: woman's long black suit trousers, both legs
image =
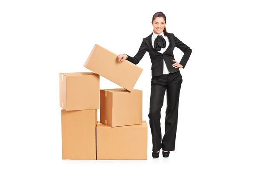
<svg viewBox="0 0 256 170">
<path fill-rule="evenodd" d="M 148 117 L 154 152 L 160 150 L 161 148 L 166 151 L 175 150 L 178 107 L 182 81 L 183 80 L 180 71 L 163 74 L 161 76 L 152 76 Z M 165 92 L 167 95 L 165 134 L 161 142 L 162 134 L 160 118 Z"/>
</svg>

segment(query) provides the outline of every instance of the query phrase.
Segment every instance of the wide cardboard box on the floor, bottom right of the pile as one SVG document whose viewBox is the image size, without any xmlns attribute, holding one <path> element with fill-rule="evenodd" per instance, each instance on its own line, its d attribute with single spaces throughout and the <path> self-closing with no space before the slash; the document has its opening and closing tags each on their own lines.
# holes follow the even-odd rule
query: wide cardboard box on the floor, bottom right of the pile
<svg viewBox="0 0 256 170">
<path fill-rule="evenodd" d="M 147 159 L 148 125 L 110 127 L 98 121 L 97 159 Z"/>
</svg>

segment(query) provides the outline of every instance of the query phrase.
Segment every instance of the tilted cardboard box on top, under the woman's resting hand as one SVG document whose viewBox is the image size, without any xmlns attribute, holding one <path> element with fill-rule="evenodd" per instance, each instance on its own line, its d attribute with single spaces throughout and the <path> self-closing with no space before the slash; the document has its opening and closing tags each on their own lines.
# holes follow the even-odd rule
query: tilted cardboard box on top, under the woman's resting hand
<svg viewBox="0 0 256 170">
<path fill-rule="evenodd" d="M 131 91 L 143 69 L 128 60 L 118 62 L 117 56 L 117 54 L 96 44 L 84 67 Z"/>
</svg>

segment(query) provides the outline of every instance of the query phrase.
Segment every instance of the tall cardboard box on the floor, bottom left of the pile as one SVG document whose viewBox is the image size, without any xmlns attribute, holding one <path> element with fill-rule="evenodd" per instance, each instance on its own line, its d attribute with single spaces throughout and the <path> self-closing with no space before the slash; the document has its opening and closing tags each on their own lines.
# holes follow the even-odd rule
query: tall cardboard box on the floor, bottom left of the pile
<svg viewBox="0 0 256 170">
<path fill-rule="evenodd" d="M 97 109 L 61 110 L 62 159 L 96 159 Z"/>
</svg>

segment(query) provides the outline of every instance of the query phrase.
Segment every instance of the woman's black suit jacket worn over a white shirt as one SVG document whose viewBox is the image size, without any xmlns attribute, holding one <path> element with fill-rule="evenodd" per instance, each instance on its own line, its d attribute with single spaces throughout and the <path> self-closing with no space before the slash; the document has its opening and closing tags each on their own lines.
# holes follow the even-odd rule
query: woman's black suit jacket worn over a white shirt
<svg viewBox="0 0 256 170">
<path fill-rule="evenodd" d="M 159 51 L 155 50 L 152 46 L 152 36 L 153 32 L 146 38 L 143 38 L 143 41 L 140 45 L 140 49 L 134 57 L 128 56 L 126 60 L 132 62 L 134 64 L 138 64 L 140 60 L 145 55 L 146 51 L 148 51 L 150 59 L 151 59 L 151 74 L 152 76 L 160 76 L 163 74 L 163 60 L 166 63 L 168 70 L 171 73 L 175 73 L 179 71 L 180 68 L 175 68 L 172 65 L 175 63 L 172 60 L 175 60 L 173 55 L 173 50 L 175 47 L 180 48 L 180 50 L 184 53 L 182 59 L 180 60 L 180 64 L 185 68 L 187 61 L 192 53 L 192 49 L 189 48 L 186 44 L 181 42 L 177 37 L 175 37 L 172 33 L 167 33 L 166 36 L 169 39 L 169 46 L 167 47 L 166 51 L 162 54 Z"/>
</svg>

